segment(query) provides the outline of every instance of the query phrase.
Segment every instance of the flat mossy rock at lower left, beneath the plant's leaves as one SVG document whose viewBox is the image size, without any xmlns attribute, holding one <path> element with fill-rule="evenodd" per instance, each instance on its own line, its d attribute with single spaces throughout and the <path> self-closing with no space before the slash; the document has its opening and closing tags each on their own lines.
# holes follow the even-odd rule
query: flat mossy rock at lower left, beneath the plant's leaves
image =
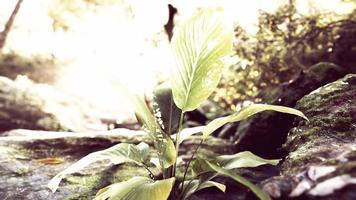
<svg viewBox="0 0 356 200">
<path fill-rule="evenodd" d="M 144 132 L 128 129 L 87 133 L 6 132 L 0 137 L 0 199 L 92 199 L 96 191 L 111 183 L 132 176 L 148 176 L 144 168 L 132 164 L 110 166 L 100 162 L 63 180 L 56 193 L 51 193 L 46 187 L 54 175 L 88 153 L 120 142 L 137 144 L 141 140 L 149 143 Z M 187 140 L 180 153 L 189 154 L 192 145 L 198 142 L 194 138 Z M 200 152 L 231 153 L 231 147 L 232 144 L 227 141 L 211 138 Z"/>
</svg>

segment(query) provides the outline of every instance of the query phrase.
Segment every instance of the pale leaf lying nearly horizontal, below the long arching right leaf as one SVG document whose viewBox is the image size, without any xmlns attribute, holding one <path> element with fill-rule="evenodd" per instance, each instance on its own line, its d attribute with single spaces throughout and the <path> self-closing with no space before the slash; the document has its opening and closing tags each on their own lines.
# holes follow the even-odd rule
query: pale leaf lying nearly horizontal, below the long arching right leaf
<svg viewBox="0 0 356 200">
<path fill-rule="evenodd" d="M 234 155 L 221 155 L 215 161 L 224 169 L 236 169 L 241 167 L 257 167 L 260 165 L 270 164 L 277 165 L 279 160 L 267 160 L 256 156 L 255 154 L 244 151 Z"/>
</svg>

